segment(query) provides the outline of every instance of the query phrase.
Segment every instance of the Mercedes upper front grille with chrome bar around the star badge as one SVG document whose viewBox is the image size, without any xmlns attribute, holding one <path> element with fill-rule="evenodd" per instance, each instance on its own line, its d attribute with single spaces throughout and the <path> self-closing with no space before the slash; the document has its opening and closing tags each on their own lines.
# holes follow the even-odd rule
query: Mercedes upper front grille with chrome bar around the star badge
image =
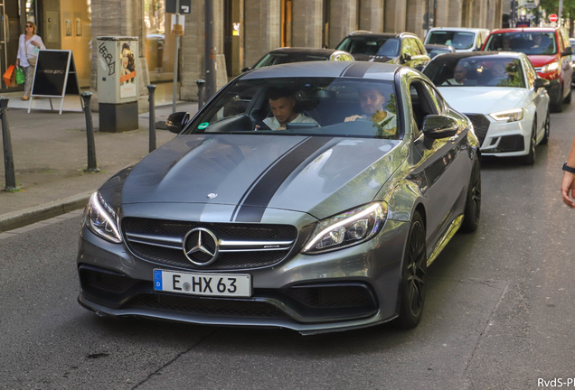
<svg viewBox="0 0 575 390">
<path fill-rule="evenodd" d="M 237 270 L 275 265 L 287 256 L 297 238 L 297 228 L 290 225 L 124 218 L 122 228 L 127 246 L 135 255 L 158 264 L 203 270 Z M 194 265 L 184 254 L 184 237 L 193 228 L 206 228 L 219 240 L 220 253 L 210 265 Z M 207 256 L 201 259 L 202 263 L 211 258 L 204 254 L 196 256 L 200 255 Z"/>
</svg>

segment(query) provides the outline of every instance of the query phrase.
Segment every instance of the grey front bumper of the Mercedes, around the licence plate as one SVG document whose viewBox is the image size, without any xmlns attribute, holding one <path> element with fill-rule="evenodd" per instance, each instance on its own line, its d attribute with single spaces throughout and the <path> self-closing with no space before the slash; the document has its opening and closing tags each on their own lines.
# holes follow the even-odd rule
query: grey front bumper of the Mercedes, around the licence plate
<svg viewBox="0 0 575 390">
<path fill-rule="evenodd" d="M 372 326 L 397 315 L 408 232 L 409 223 L 388 220 L 372 240 L 322 255 L 299 254 L 298 239 L 292 253 L 277 265 L 209 271 L 250 274 L 250 298 L 208 298 L 156 292 L 154 269 L 190 270 L 137 257 L 124 244 L 108 243 L 84 227 L 77 260 L 79 302 L 114 317 L 280 327 L 304 334 Z"/>
</svg>

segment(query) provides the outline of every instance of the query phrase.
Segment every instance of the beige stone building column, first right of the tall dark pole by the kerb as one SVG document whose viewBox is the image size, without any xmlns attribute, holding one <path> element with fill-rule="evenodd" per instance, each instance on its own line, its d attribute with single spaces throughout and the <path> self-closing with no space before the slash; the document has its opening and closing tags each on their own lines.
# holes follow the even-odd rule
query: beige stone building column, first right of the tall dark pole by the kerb
<svg viewBox="0 0 575 390">
<path fill-rule="evenodd" d="M 244 7 L 244 59 L 251 66 L 281 44 L 281 1 L 245 0 Z"/>
</svg>

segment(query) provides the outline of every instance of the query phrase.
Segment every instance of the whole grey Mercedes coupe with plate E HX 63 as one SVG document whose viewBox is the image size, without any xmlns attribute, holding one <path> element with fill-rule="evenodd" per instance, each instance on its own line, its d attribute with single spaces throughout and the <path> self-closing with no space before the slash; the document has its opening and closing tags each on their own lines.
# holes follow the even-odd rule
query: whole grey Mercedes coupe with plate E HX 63
<svg viewBox="0 0 575 390">
<path fill-rule="evenodd" d="M 428 266 L 479 222 L 473 126 L 417 70 L 251 70 L 167 125 L 86 208 L 79 302 L 99 315 L 412 328 Z"/>
</svg>

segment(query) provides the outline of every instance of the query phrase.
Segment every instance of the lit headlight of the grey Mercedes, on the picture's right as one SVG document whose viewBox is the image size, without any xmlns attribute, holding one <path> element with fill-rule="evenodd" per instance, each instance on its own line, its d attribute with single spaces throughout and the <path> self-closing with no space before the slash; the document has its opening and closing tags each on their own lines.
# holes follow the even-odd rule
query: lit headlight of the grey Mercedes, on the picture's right
<svg viewBox="0 0 575 390">
<path fill-rule="evenodd" d="M 301 253 L 314 255 L 362 243 L 375 236 L 387 217 L 387 204 L 372 203 L 319 221 Z"/>
</svg>

